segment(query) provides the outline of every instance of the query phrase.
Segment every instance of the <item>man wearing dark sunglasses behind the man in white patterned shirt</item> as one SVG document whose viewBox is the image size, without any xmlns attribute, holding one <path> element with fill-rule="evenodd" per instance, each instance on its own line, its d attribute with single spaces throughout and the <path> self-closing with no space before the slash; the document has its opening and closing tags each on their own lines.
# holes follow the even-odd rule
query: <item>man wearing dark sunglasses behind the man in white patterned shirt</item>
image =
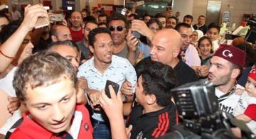
<svg viewBox="0 0 256 139">
<path fill-rule="evenodd" d="M 107 26 L 111 31 L 111 38 L 113 40 L 113 53 L 119 57 L 124 57 L 132 63 L 136 64 L 137 50 L 133 50 L 128 47 L 125 37 L 128 32 L 128 22 L 127 18 L 121 13 L 112 13 L 107 18 Z"/>
</svg>

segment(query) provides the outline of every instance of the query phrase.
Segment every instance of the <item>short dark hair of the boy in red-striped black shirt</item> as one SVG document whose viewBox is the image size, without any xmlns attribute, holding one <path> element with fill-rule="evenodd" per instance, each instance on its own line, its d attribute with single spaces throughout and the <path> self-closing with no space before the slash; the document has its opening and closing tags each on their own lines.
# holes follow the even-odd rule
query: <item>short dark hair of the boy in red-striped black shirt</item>
<svg viewBox="0 0 256 139">
<path fill-rule="evenodd" d="M 172 67 L 152 61 L 144 67 L 141 76 L 144 94 L 154 94 L 159 106 L 171 104 L 171 89 L 174 89 L 178 82 Z"/>
</svg>

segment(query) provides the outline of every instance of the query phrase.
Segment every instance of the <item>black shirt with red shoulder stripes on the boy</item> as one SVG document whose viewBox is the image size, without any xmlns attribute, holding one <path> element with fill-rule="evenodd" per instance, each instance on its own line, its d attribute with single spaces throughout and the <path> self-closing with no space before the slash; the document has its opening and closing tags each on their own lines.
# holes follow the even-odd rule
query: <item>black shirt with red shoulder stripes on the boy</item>
<svg viewBox="0 0 256 139">
<path fill-rule="evenodd" d="M 159 138 L 170 132 L 171 127 L 178 123 L 174 103 L 159 111 L 145 114 L 142 111 L 142 106 L 134 106 L 128 117 L 128 126 L 132 125 L 131 139 Z"/>
</svg>

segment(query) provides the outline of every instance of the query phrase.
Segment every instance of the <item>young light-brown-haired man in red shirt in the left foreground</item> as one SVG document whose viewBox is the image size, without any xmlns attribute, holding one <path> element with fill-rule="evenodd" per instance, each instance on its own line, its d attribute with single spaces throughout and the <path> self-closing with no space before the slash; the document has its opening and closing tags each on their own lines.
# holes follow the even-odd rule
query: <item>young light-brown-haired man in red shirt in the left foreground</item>
<svg viewBox="0 0 256 139">
<path fill-rule="evenodd" d="M 92 138 L 90 116 L 76 105 L 73 66 L 55 52 L 24 60 L 14 75 L 14 89 L 28 111 L 10 138 Z"/>
</svg>

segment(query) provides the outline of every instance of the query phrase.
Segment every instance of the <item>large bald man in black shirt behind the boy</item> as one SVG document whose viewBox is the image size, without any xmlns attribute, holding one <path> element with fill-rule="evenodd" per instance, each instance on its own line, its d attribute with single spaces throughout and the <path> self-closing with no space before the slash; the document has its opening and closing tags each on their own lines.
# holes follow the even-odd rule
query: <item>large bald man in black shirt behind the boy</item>
<svg viewBox="0 0 256 139">
<path fill-rule="evenodd" d="M 136 65 L 137 74 L 139 74 L 140 66 L 150 64 L 151 61 L 156 61 L 174 68 L 178 78 L 178 86 L 187 82 L 197 81 L 198 77 L 193 69 L 178 57 L 181 45 L 181 35 L 176 30 L 159 30 L 151 41 L 150 57 L 146 57 Z"/>
</svg>

